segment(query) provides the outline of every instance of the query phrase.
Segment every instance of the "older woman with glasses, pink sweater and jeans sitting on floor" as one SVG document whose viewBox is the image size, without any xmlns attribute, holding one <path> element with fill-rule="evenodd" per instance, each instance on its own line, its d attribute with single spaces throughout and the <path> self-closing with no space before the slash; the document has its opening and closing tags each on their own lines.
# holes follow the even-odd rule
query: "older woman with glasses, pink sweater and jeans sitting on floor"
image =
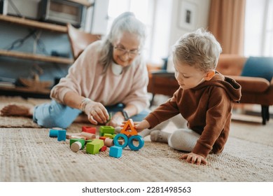
<svg viewBox="0 0 273 196">
<path fill-rule="evenodd" d="M 10 104 L 1 115 L 32 116 L 42 127 L 62 128 L 82 112 L 94 125 L 117 127 L 127 118 L 142 120 L 149 104 L 148 72 L 141 56 L 145 38 L 145 26 L 134 14 L 119 15 L 109 34 L 90 44 L 52 88 L 52 102 L 34 107 Z"/>
</svg>

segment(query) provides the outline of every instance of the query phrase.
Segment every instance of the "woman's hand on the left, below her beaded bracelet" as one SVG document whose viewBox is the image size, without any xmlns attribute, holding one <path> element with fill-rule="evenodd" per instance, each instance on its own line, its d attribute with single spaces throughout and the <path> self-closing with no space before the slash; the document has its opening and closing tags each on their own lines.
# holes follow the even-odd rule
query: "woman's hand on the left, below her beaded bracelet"
<svg viewBox="0 0 273 196">
<path fill-rule="evenodd" d="M 85 113 L 90 123 L 94 125 L 97 125 L 98 122 L 103 124 L 109 120 L 109 114 L 106 108 L 99 102 L 93 102 L 91 100 L 90 102 L 87 102 L 85 106 Z"/>
</svg>

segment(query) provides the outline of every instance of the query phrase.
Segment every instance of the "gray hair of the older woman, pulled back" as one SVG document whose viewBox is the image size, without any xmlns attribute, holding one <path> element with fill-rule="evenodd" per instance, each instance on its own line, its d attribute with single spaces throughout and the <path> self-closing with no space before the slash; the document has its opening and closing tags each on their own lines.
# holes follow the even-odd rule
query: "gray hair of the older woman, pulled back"
<svg viewBox="0 0 273 196">
<path fill-rule="evenodd" d="M 136 34 L 139 37 L 139 50 L 144 46 L 146 39 L 145 25 L 135 17 L 134 13 L 122 13 L 113 21 L 109 34 L 106 35 L 102 42 L 99 63 L 104 66 L 104 72 L 113 62 L 113 43 L 118 41 L 125 31 L 130 34 Z"/>
</svg>

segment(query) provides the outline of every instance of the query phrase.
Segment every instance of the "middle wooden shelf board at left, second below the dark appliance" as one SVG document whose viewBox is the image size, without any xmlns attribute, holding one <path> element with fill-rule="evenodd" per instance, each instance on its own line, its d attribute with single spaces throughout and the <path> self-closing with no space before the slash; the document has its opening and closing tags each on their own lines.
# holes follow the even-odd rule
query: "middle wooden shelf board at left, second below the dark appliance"
<svg viewBox="0 0 273 196">
<path fill-rule="evenodd" d="M 42 62 L 54 62 L 54 63 L 60 63 L 60 64 L 73 64 L 73 59 L 69 59 L 69 58 L 52 57 L 52 56 L 31 54 L 27 52 L 18 52 L 18 51 L 1 50 L 1 49 L 0 49 L 0 56 L 15 57 L 20 59 L 29 59 L 29 60 L 42 61 Z"/>
</svg>

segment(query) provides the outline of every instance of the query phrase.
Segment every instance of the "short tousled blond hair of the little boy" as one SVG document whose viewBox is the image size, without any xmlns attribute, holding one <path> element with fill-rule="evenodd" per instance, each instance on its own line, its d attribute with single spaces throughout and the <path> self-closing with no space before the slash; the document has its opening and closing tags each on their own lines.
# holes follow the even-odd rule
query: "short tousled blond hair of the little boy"
<svg viewBox="0 0 273 196">
<path fill-rule="evenodd" d="M 222 48 L 213 34 L 201 28 L 181 36 L 172 51 L 174 59 L 206 72 L 216 69 Z"/>
</svg>

